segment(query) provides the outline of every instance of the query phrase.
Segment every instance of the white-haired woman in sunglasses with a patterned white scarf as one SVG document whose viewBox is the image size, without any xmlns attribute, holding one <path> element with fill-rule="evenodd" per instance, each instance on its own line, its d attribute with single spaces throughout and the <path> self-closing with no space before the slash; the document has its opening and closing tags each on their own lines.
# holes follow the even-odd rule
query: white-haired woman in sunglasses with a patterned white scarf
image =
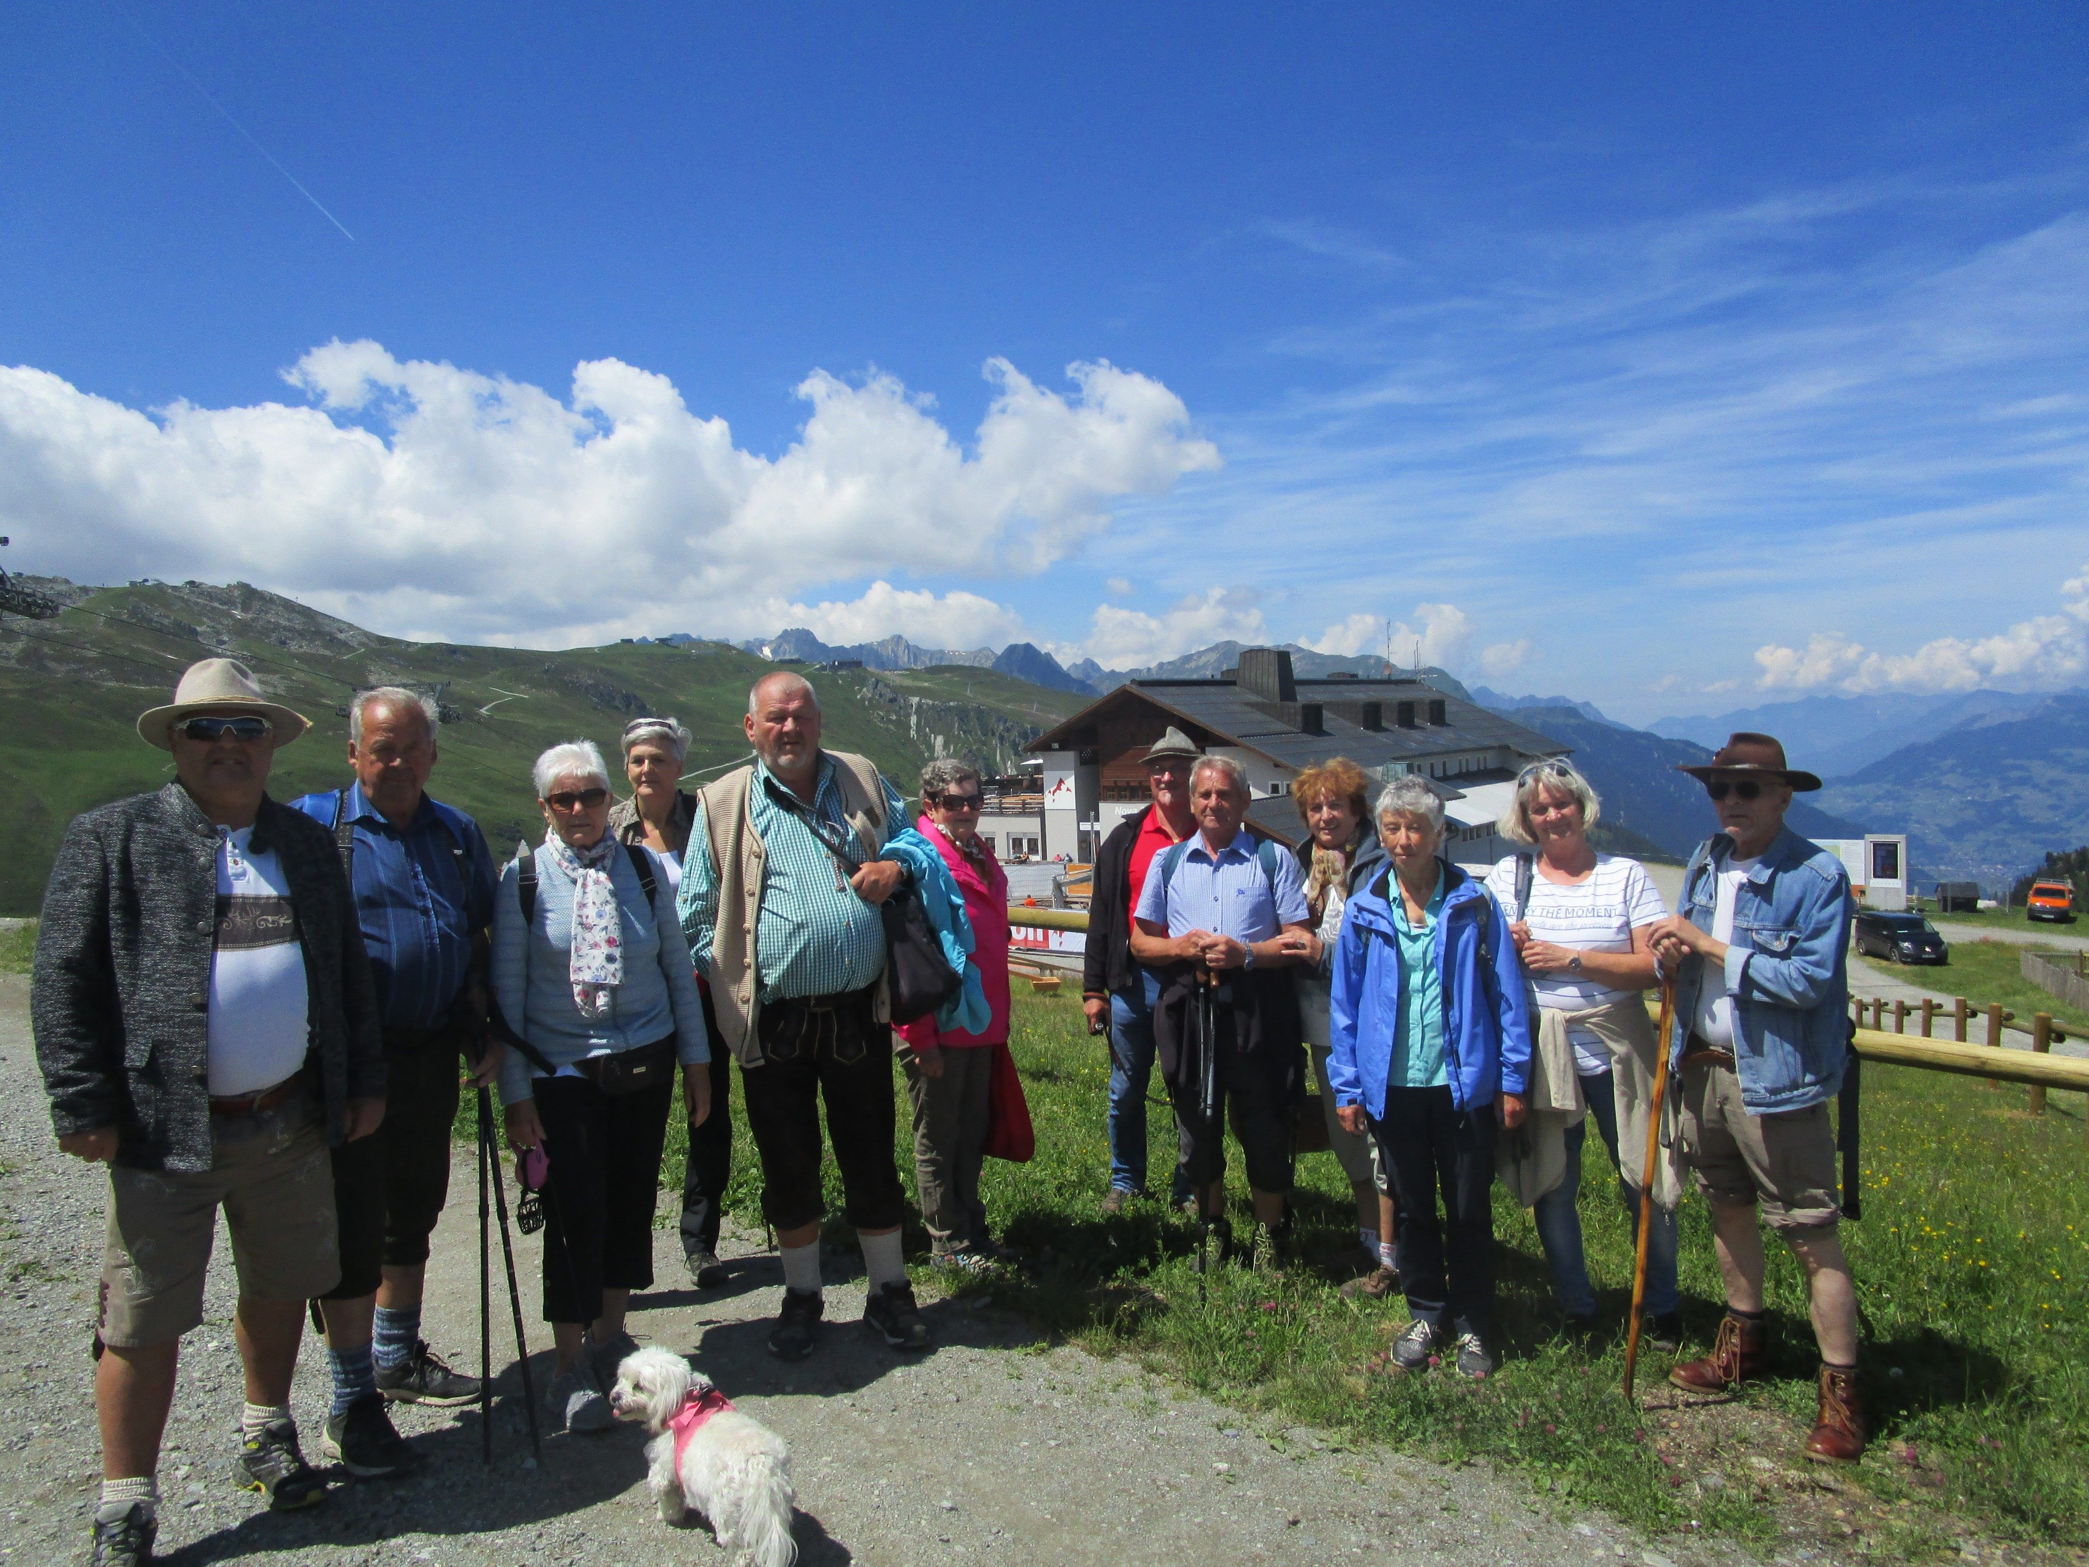
<svg viewBox="0 0 2089 1567">
<path fill-rule="evenodd" d="M 710 1114 L 696 969 L 658 857 L 608 829 L 610 775 L 587 740 L 537 758 L 545 838 L 501 873 L 493 986 L 520 1047 L 501 1063 L 508 1143 L 549 1164 L 543 1314 L 558 1346 L 549 1410 L 606 1431 L 604 1389 L 635 1346 L 633 1289 L 652 1285 L 652 1220 L 675 1070 L 691 1124 Z M 648 896 L 648 892 L 652 896 Z"/>
</svg>

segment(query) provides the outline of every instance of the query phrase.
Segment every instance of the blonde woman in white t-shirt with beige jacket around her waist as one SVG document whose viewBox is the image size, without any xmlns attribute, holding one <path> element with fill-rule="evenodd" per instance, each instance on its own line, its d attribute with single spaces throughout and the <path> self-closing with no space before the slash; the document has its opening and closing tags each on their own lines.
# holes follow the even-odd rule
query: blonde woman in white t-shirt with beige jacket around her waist
<svg viewBox="0 0 2089 1567">
<path fill-rule="evenodd" d="M 1646 1168 L 1654 1030 L 1640 992 L 1657 984 L 1650 930 L 1667 909 L 1652 878 L 1634 859 L 1598 855 L 1588 842 L 1600 800 L 1565 761 L 1531 763 L 1498 825 L 1535 855 L 1510 855 L 1487 873 L 1510 921 L 1510 936 L 1531 978 L 1540 1028 L 1565 1028 L 1588 1114 L 1611 1151 L 1617 1191 L 1634 1231 L 1640 1174 Z M 1519 873 L 1521 867 L 1521 873 Z M 1619 1126 L 1625 1128 L 1623 1160 Z M 1581 1249 L 1581 1143 L 1588 1122 L 1567 1128 L 1567 1178 L 1531 1208 L 1552 1287 L 1571 1329 L 1596 1327 L 1596 1291 Z M 1663 1183 L 1657 1180 L 1657 1195 Z M 1675 1210 L 1654 1203 L 1646 1245 L 1646 1314 L 1652 1343 L 1680 1343 L 1675 1289 Z"/>
</svg>

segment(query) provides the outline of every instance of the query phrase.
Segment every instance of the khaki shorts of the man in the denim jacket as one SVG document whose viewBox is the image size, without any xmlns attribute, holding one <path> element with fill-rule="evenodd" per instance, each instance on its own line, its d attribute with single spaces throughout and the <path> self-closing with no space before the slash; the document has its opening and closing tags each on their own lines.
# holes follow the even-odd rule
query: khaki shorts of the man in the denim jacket
<svg viewBox="0 0 2089 1567">
<path fill-rule="evenodd" d="M 1828 1105 L 1751 1116 L 1732 1068 L 1684 1068 L 1682 1157 L 1707 1199 L 1761 1203 L 1771 1229 L 1815 1229 L 1842 1216 Z"/>
</svg>

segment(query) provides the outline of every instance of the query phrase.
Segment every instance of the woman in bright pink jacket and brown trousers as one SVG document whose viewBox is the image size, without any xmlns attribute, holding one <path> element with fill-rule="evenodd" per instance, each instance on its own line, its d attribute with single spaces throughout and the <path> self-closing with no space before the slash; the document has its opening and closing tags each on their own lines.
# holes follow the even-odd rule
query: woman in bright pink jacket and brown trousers
<svg viewBox="0 0 2089 1567">
<path fill-rule="evenodd" d="M 980 773 L 944 758 L 921 769 L 921 836 L 936 844 L 965 892 L 971 917 L 971 961 L 980 969 L 992 1013 L 980 1034 L 936 1028 L 934 1013 L 900 1028 L 907 1053 L 907 1097 L 915 1112 L 915 1178 L 921 1222 L 940 1268 L 984 1268 L 996 1256 L 980 1201 L 986 1149 L 988 1086 L 994 1045 L 1009 1038 L 1009 878 L 980 838 L 984 792 Z"/>
</svg>

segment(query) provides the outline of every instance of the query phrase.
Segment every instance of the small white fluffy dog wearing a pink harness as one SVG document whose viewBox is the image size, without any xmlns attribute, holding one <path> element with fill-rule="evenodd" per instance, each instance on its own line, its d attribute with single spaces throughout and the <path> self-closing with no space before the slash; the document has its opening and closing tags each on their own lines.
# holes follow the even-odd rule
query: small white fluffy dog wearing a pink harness
<svg viewBox="0 0 2089 1567">
<path fill-rule="evenodd" d="M 646 1488 L 664 1523 L 696 1508 L 727 1550 L 744 1550 L 756 1567 L 790 1567 L 798 1542 L 790 1534 L 790 1448 L 783 1437 L 742 1414 L 710 1377 L 691 1371 L 673 1350 L 625 1356 L 610 1389 L 620 1421 L 643 1421 Z"/>
</svg>

